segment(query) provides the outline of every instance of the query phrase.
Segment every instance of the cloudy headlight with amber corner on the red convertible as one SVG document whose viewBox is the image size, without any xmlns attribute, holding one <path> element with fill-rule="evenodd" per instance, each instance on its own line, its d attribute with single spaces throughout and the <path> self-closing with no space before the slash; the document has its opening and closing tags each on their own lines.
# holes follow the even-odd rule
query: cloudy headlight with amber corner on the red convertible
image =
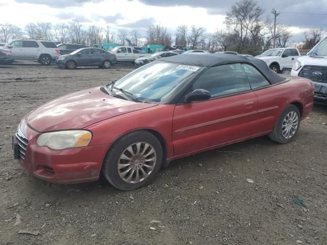
<svg viewBox="0 0 327 245">
<path fill-rule="evenodd" d="M 66 130 L 41 134 L 37 139 L 38 146 L 46 146 L 52 150 L 63 150 L 87 146 L 92 134 L 86 130 Z"/>
</svg>

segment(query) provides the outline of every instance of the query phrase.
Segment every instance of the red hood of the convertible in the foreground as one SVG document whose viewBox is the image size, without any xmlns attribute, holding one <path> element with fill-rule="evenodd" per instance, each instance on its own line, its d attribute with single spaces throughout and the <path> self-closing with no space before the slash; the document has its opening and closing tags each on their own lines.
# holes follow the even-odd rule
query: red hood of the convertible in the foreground
<svg viewBox="0 0 327 245">
<path fill-rule="evenodd" d="M 153 106 L 156 104 L 118 99 L 96 87 L 48 102 L 29 113 L 26 122 L 39 132 L 82 129 L 111 117 Z"/>
</svg>

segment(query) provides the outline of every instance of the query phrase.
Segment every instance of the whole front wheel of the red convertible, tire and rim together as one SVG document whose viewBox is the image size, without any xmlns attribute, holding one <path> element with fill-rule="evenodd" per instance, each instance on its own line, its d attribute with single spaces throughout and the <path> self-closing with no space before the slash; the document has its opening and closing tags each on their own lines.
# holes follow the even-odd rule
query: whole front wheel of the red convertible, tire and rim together
<svg viewBox="0 0 327 245">
<path fill-rule="evenodd" d="M 102 171 L 114 187 L 133 190 L 151 182 L 161 164 L 162 147 L 159 140 L 150 132 L 139 130 L 126 134 L 111 146 Z"/>
</svg>

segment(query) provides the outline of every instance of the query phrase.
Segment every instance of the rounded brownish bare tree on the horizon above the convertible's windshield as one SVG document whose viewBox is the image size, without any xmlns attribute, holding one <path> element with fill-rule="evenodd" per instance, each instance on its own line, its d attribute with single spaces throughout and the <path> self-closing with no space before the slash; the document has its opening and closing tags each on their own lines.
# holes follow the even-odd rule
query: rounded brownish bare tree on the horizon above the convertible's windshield
<svg viewBox="0 0 327 245">
<path fill-rule="evenodd" d="M 159 44 L 171 46 L 172 37 L 168 32 L 167 27 L 162 27 L 159 24 L 156 26 L 149 26 L 147 29 L 148 44 Z"/>
</svg>

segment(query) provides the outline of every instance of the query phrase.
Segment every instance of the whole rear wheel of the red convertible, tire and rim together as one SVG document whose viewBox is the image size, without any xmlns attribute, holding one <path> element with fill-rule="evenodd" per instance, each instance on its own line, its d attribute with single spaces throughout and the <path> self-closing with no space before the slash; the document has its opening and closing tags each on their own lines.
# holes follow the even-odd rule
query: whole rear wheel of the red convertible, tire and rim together
<svg viewBox="0 0 327 245">
<path fill-rule="evenodd" d="M 269 134 L 269 138 L 281 144 L 292 140 L 300 126 L 300 112 L 294 105 L 285 108 L 282 115 L 279 116 L 275 127 Z M 289 135 L 287 134 L 288 132 Z"/>
</svg>

